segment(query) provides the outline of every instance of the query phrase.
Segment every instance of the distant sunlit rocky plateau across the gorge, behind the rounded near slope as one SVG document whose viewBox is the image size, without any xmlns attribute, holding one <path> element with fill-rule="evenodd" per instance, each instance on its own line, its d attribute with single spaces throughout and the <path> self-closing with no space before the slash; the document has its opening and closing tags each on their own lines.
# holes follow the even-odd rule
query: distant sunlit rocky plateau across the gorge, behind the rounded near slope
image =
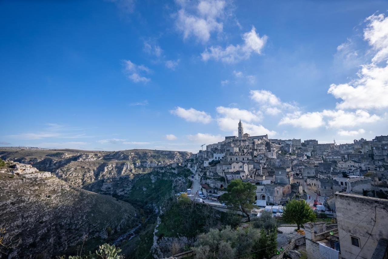
<svg viewBox="0 0 388 259">
<path fill-rule="evenodd" d="M 81 152 L 58 150 L 0 150 L 3 160 L 17 161 L 48 171 L 58 178 L 80 188 L 90 188 L 91 183 L 101 181 L 105 193 L 112 178 L 149 173 L 158 167 L 185 161 L 191 153 L 163 150 L 123 150 L 115 152 Z M 127 178 L 125 178 L 127 179 Z M 97 191 L 97 189 L 96 189 Z"/>
</svg>

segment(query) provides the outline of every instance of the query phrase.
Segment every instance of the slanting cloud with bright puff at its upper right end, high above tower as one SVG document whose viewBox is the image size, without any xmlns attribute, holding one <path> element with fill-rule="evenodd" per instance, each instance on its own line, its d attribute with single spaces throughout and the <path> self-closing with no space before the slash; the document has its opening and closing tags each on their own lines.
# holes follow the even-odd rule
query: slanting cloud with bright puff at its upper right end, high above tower
<svg viewBox="0 0 388 259">
<path fill-rule="evenodd" d="M 260 38 L 256 29 L 252 26 L 251 31 L 242 35 L 242 45 L 229 45 L 226 48 L 211 46 L 201 54 L 202 60 L 221 60 L 225 63 L 236 63 L 240 60 L 249 59 L 251 54 L 261 54 L 261 50 L 267 42 L 267 35 Z"/>
</svg>

